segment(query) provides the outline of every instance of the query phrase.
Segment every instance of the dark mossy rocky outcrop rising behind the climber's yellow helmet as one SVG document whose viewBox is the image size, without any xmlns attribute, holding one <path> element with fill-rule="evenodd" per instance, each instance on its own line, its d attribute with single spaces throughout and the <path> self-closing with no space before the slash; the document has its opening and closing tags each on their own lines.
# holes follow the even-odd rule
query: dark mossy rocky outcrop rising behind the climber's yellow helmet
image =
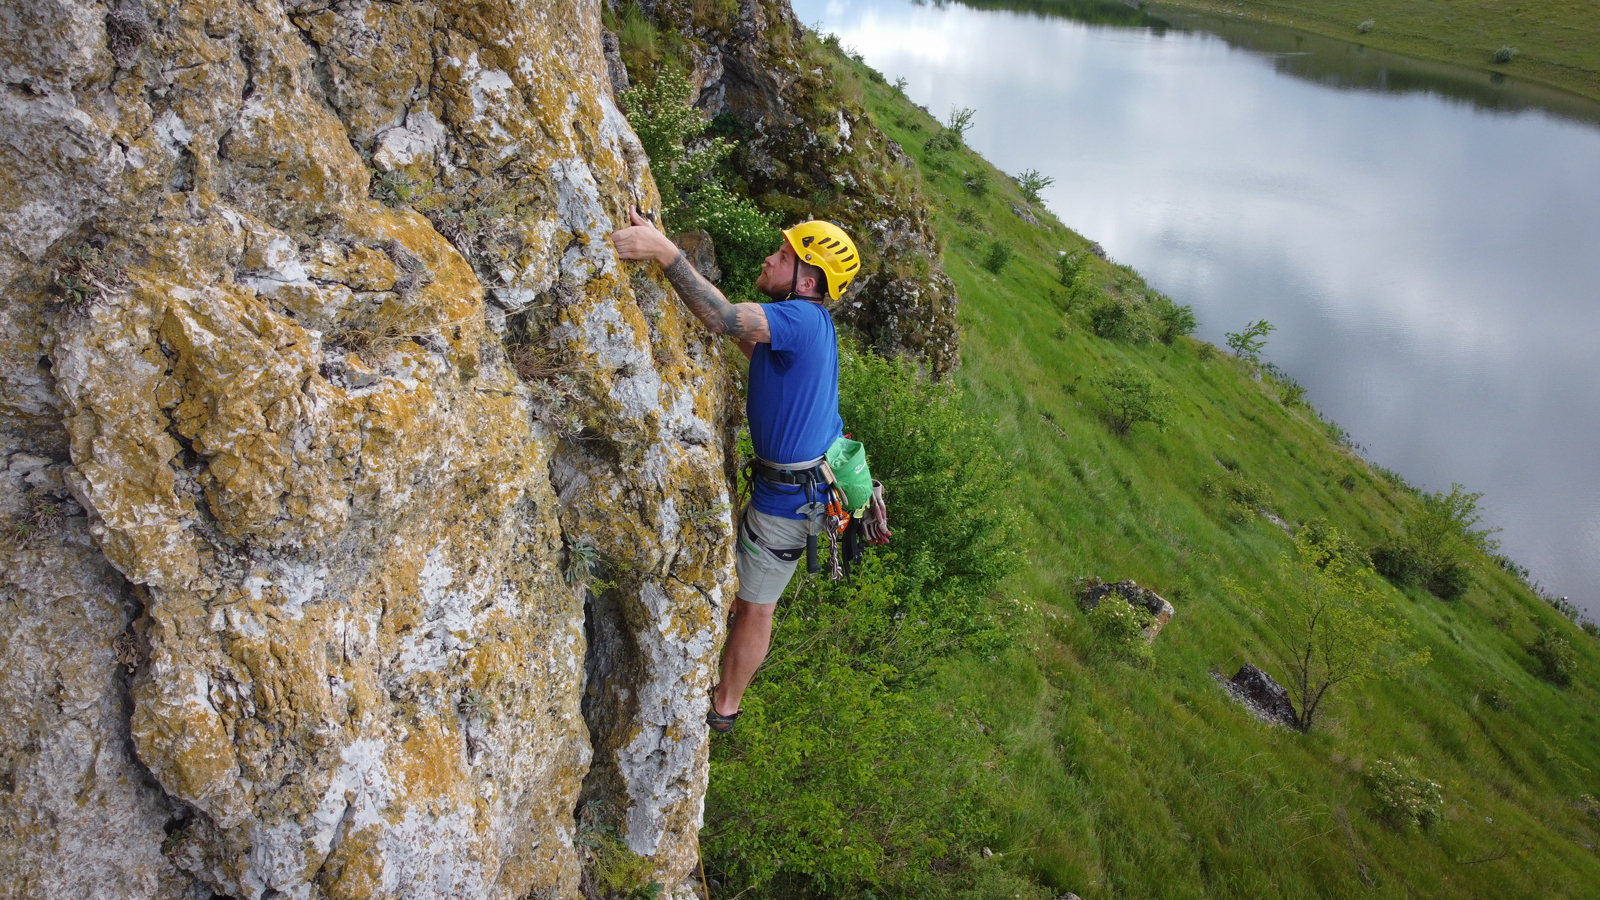
<svg viewBox="0 0 1600 900">
<path fill-rule="evenodd" d="M 854 235 L 862 274 L 835 319 L 933 375 L 960 365 L 958 298 L 915 163 L 842 94 L 834 62 L 806 48 L 787 0 L 739 0 L 736 13 L 682 0 L 643 6 L 686 46 L 696 106 L 738 139 L 733 162 L 750 195 L 784 224 L 826 218 Z"/>
</svg>

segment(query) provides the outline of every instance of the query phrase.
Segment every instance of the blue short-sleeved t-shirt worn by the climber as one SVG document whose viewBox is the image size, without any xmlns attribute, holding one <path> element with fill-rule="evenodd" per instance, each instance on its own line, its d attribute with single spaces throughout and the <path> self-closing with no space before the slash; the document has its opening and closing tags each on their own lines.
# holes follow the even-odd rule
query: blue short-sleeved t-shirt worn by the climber
<svg viewBox="0 0 1600 900">
<path fill-rule="evenodd" d="M 827 453 L 845 432 L 845 420 L 838 418 L 838 335 L 834 317 L 818 303 L 786 299 L 765 309 L 773 343 L 755 344 L 750 354 L 744 402 L 750 444 L 768 463 L 806 463 Z M 805 519 L 795 512 L 806 503 L 795 485 L 757 477 L 750 503 L 768 516 Z"/>
</svg>

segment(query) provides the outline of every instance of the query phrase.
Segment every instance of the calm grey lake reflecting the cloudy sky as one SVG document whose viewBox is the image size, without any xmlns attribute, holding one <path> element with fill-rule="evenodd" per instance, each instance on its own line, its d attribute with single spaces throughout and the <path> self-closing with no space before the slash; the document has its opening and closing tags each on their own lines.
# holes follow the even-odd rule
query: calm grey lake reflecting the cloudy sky
<svg viewBox="0 0 1600 900">
<path fill-rule="evenodd" d="M 794 0 L 1600 618 L 1600 104 L 1224 16 Z M 1038 10 L 1045 10 L 1043 5 Z"/>
</svg>

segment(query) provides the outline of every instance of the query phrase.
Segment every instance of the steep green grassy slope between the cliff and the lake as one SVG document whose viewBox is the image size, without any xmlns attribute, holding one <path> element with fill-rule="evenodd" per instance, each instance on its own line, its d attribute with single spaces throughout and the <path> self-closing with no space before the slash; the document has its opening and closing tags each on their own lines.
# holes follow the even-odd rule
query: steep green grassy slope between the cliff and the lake
<svg viewBox="0 0 1600 900">
<path fill-rule="evenodd" d="M 1085 239 L 1050 215 L 1043 227 L 1022 223 L 1008 207 L 1021 197 L 974 154 L 931 168 L 922 147 L 936 122 L 851 66 L 878 125 L 917 157 L 938 199 L 962 295 L 960 378 L 1013 450 L 1029 512 L 1030 564 L 1014 597 L 1037 607 L 1037 629 L 1005 658 L 949 666 L 941 685 L 978 698 L 1003 746 L 1011 790 L 995 802 L 1008 844 L 995 849 L 1090 900 L 1600 895 L 1600 820 L 1578 801 L 1600 794 L 1600 645 L 1485 560 L 1461 602 L 1400 601 L 1432 665 L 1344 690 L 1309 737 L 1251 719 L 1213 679 L 1267 663 L 1261 629 L 1222 578 L 1270 588 L 1290 538 L 1266 519 L 1229 522 L 1200 496 L 1202 479 L 1227 460 L 1272 487 L 1285 520 L 1325 516 L 1363 541 L 1397 527 L 1414 498 L 1237 360 L 1203 360 L 1187 338 L 1104 341 L 1082 312 L 1062 314 L 1053 259 Z M 989 171 L 994 189 L 971 195 L 963 170 Z M 957 221 L 962 208 L 976 224 Z M 998 277 L 976 264 L 994 237 L 1018 250 Z M 1096 275 L 1112 269 L 1096 261 Z M 1118 362 L 1179 397 L 1165 432 L 1141 424 L 1118 439 L 1102 424 L 1086 384 Z M 1354 490 L 1341 487 L 1346 476 Z M 1080 575 L 1131 577 L 1173 599 L 1178 618 L 1152 671 L 1091 661 L 1069 601 Z M 1530 674 L 1523 647 L 1539 625 L 1578 647 L 1570 690 Z M 1510 709 L 1478 700 L 1499 679 Z M 1395 753 L 1442 783 L 1442 828 L 1406 834 L 1374 818 L 1360 772 Z"/>
</svg>

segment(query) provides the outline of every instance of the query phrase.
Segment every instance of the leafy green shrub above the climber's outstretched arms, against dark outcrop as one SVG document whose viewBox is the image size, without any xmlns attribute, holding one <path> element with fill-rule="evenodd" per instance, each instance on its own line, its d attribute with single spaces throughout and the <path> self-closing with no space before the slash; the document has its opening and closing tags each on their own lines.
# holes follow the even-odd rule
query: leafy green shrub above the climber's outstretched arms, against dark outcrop
<svg viewBox="0 0 1600 900">
<path fill-rule="evenodd" d="M 702 138 L 707 122 L 690 106 L 690 93 L 688 78 L 666 66 L 653 85 L 624 91 L 621 102 L 661 189 L 664 227 L 710 234 L 725 272 L 723 293 L 754 299 L 755 275 L 779 232 L 749 197 L 730 187 L 723 163 L 734 144 L 722 136 Z"/>
</svg>

